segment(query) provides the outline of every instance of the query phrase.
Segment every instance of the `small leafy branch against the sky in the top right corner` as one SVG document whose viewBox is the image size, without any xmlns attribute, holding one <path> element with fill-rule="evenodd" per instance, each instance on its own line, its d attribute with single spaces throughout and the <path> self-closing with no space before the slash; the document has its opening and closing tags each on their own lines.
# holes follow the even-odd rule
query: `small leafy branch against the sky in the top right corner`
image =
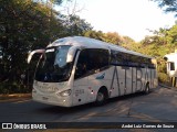
<svg viewBox="0 0 177 132">
<path fill-rule="evenodd" d="M 175 12 L 177 16 L 177 0 L 152 0 L 158 2 L 159 8 L 164 8 L 165 12 Z"/>
</svg>

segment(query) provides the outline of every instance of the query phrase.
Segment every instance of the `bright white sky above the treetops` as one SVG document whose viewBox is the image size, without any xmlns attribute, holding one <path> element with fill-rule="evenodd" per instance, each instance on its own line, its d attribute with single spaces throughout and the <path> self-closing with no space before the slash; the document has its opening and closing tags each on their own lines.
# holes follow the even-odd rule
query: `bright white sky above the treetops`
<svg viewBox="0 0 177 132">
<path fill-rule="evenodd" d="M 173 13 L 164 13 L 157 3 L 150 0 L 73 0 L 72 3 L 62 6 L 72 7 L 75 1 L 76 11 L 82 9 L 76 14 L 91 23 L 93 30 L 117 32 L 136 42 L 150 35 L 149 30 L 170 28 L 177 20 Z M 72 9 L 70 8 L 70 13 Z"/>
</svg>

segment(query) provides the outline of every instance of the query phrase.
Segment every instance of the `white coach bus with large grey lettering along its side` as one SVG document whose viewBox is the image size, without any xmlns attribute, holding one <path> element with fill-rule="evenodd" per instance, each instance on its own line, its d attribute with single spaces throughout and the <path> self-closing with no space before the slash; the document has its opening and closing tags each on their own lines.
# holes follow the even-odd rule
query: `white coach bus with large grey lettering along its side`
<svg viewBox="0 0 177 132">
<path fill-rule="evenodd" d="M 73 107 L 149 92 L 157 87 L 156 61 L 149 56 L 94 38 L 63 37 L 29 54 L 41 53 L 37 65 L 34 101 Z"/>
</svg>

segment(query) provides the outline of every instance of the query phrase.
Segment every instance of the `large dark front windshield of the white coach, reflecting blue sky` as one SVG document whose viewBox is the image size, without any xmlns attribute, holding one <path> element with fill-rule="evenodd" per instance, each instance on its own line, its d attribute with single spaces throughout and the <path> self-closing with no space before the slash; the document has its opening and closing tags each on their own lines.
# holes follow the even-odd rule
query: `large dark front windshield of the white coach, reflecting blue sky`
<svg viewBox="0 0 177 132">
<path fill-rule="evenodd" d="M 71 45 L 46 48 L 35 70 L 35 80 L 44 82 L 66 81 L 71 75 L 72 62 L 66 63 Z"/>
</svg>

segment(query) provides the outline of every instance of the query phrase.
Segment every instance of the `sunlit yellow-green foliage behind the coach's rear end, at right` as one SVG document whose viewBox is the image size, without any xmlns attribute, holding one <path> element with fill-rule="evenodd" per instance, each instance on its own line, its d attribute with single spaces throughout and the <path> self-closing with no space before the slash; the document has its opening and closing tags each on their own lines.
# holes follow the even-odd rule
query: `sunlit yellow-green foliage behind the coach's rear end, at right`
<svg viewBox="0 0 177 132">
<path fill-rule="evenodd" d="M 177 48 L 177 24 L 170 29 L 154 31 L 153 36 L 146 36 L 140 43 L 123 44 L 122 46 L 156 57 L 159 81 L 168 84 L 166 62 L 163 58 L 166 54 L 173 53 Z"/>
</svg>

